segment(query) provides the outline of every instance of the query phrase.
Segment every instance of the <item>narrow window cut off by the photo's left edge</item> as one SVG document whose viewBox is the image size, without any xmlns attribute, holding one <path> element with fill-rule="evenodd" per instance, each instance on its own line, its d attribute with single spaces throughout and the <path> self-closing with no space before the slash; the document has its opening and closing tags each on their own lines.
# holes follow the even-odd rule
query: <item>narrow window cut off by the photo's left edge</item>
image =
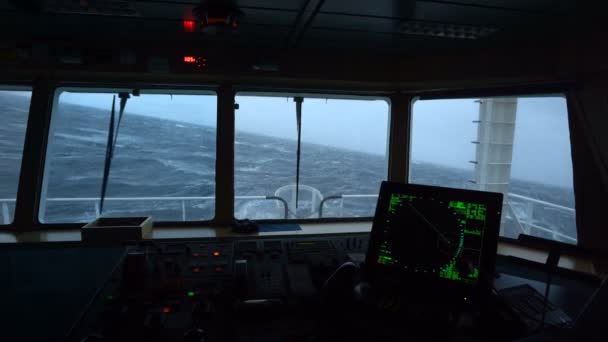
<svg viewBox="0 0 608 342">
<path fill-rule="evenodd" d="M 13 222 L 32 92 L 0 88 L 0 225 Z"/>
</svg>

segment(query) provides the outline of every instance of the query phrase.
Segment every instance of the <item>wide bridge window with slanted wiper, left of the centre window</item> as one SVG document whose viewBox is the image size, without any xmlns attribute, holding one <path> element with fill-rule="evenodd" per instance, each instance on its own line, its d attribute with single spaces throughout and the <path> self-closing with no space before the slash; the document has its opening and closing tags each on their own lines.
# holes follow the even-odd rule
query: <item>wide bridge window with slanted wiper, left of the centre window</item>
<svg viewBox="0 0 608 342">
<path fill-rule="evenodd" d="M 210 92 L 59 89 L 40 221 L 212 219 L 216 111 Z"/>
</svg>

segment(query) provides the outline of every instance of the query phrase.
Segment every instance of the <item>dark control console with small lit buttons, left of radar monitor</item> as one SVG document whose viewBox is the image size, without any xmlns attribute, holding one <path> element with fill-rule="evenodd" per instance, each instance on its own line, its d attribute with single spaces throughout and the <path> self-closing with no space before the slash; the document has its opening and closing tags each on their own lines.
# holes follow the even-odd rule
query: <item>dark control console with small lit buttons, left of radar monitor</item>
<svg viewBox="0 0 608 342">
<path fill-rule="evenodd" d="M 338 266 L 365 259 L 367 244 L 364 234 L 127 246 L 68 340 L 314 340 L 307 308 Z"/>
</svg>

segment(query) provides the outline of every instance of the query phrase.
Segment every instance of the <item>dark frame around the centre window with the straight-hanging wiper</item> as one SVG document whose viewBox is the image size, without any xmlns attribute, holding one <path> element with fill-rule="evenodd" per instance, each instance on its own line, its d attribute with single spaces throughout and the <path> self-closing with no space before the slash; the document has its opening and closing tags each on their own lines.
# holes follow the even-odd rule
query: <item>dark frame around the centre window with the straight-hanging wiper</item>
<svg viewBox="0 0 608 342">
<path fill-rule="evenodd" d="M 306 98 L 314 99 L 335 99 L 335 100 L 382 100 L 388 105 L 387 113 L 387 135 L 386 135 L 386 160 L 387 160 L 387 174 L 386 179 L 390 179 L 391 175 L 391 142 L 392 142 L 392 118 L 393 113 L 393 102 L 394 97 L 391 96 L 390 92 L 356 92 L 356 91 L 325 91 L 325 90 L 300 90 L 300 89 L 269 89 L 269 88 L 236 88 L 234 90 L 234 98 L 236 103 L 237 96 L 266 96 L 266 97 L 277 97 L 277 98 L 289 98 L 301 96 Z M 235 134 L 236 134 L 236 114 L 235 114 Z M 236 138 L 235 138 L 236 139 Z M 233 139 L 233 140 L 235 140 Z M 234 142 L 234 141 L 233 141 Z M 236 158 L 236 151 L 234 153 Z M 236 168 L 232 168 L 233 180 L 236 176 Z M 236 182 L 233 182 L 233 186 Z M 236 194 L 234 194 L 232 202 L 236 201 Z M 235 210 L 232 210 L 232 218 L 237 219 L 235 216 Z M 273 223 L 293 223 L 293 224 L 323 224 L 323 223 L 348 223 L 348 222 L 370 222 L 373 220 L 373 216 L 365 217 L 323 217 L 323 218 L 297 218 L 297 219 L 263 219 L 256 220 L 256 222 L 262 224 L 273 224 Z"/>
</svg>

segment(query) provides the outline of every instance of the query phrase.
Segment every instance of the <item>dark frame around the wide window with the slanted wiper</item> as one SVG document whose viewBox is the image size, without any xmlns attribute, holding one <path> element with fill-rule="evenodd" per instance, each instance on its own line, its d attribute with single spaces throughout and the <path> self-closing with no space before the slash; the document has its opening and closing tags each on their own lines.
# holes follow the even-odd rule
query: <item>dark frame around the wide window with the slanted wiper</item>
<svg viewBox="0 0 608 342">
<path fill-rule="evenodd" d="M 35 225 L 36 227 L 39 227 L 39 230 L 71 230 L 71 229 L 80 229 L 83 226 L 83 223 L 77 223 L 77 222 L 67 222 L 67 223 L 46 223 L 46 222 L 42 222 L 40 220 L 41 218 L 41 214 L 42 214 L 42 209 L 43 209 L 43 198 L 46 197 L 46 190 L 48 188 L 47 186 L 47 181 L 48 181 L 48 177 L 47 177 L 47 173 L 48 173 L 48 167 L 47 167 L 47 163 L 49 162 L 47 160 L 47 153 L 50 151 L 50 146 L 52 144 L 52 133 L 54 132 L 54 124 L 56 122 L 56 115 L 54 115 L 54 111 L 56 110 L 56 108 L 58 107 L 58 101 L 59 101 L 59 96 L 61 95 L 62 92 L 64 91 L 71 91 L 71 92 L 81 92 L 81 93 L 117 93 L 119 91 L 125 91 L 125 92 L 129 92 L 131 93 L 134 89 L 138 89 L 141 91 L 141 94 L 166 94 L 169 95 L 173 94 L 173 95 L 213 95 L 216 97 L 216 126 L 219 125 L 219 119 L 220 119 L 220 111 L 219 111 L 219 92 L 218 92 L 218 87 L 217 86 L 183 86 L 183 85 L 162 85 L 162 86 L 157 86 L 157 85 L 150 85 L 150 84 L 137 84 L 135 86 L 128 84 L 128 83 L 99 83 L 99 84 L 95 84 L 95 85 L 91 85 L 89 83 L 86 84 L 82 84 L 82 83 L 58 83 L 55 84 L 53 87 L 51 87 L 50 89 L 50 97 L 51 99 L 49 99 L 49 108 L 48 108 L 48 112 L 49 112 L 49 123 L 46 127 L 45 130 L 45 143 L 44 143 L 44 147 L 43 147 L 43 151 L 41 154 L 41 164 L 42 164 L 42 172 L 40 175 L 40 180 L 39 180 L 39 189 L 38 189 L 38 196 L 36 197 L 36 206 L 35 206 L 35 212 L 34 212 L 34 220 L 35 220 Z M 217 129 L 217 127 L 216 127 Z M 219 144 L 218 144 L 218 134 L 216 131 L 216 161 L 215 161 L 215 165 L 214 165 L 214 170 L 215 170 L 215 175 L 214 178 L 216 179 L 216 186 L 215 186 L 215 201 L 214 201 L 214 213 L 213 213 L 213 217 L 210 220 L 197 220 L 197 221 L 155 221 L 154 222 L 154 226 L 155 227 L 200 227 L 200 226 L 213 226 L 216 222 L 216 216 L 217 216 L 217 194 L 218 194 L 218 188 L 217 188 L 217 178 L 218 178 L 218 173 L 217 173 L 217 158 L 218 158 L 218 153 L 219 153 Z"/>
</svg>

